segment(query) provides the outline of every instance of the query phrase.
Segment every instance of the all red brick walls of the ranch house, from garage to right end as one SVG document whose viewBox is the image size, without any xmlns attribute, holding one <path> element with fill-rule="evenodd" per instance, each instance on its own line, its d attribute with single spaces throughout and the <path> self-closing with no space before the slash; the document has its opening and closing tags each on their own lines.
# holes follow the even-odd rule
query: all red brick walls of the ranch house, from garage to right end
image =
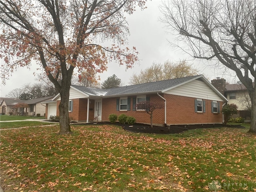
<svg viewBox="0 0 256 192">
<path fill-rule="evenodd" d="M 156 109 L 153 112 L 153 124 L 164 125 L 164 100 L 157 94 L 147 95 L 150 97 L 150 101 L 158 102 L 163 105 L 162 109 Z M 211 112 L 211 100 L 205 100 L 206 112 L 195 112 L 194 100 L 196 98 L 190 98 L 185 96 L 176 96 L 170 94 L 161 94 L 166 99 L 166 123 L 168 125 L 174 124 L 210 124 L 210 123 L 222 123 L 222 114 L 213 114 Z M 116 98 L 103 98 L 102 99 L 102 121 L 108 121 L 109 114 L 126 114 L 127 116 L 133 116 L 138 123 L 150 124 L 150 115 L 145 111 L 133 111 L 133 97 L 130 96 L 130 111 L 117 111 L 116 110 Z M 94 100 L 90 100 L 89 106 L 89 121 L 94 120 Z M 220 102 L 220 110 L 222 104 Z M 57 101 L 57 116 L 59 116 L 58 106 L 60 101 Z M 48 112 L 48 105 L 46 105 L 46 117 Z M 69 116 L 74 121 L 86 122 L 87 116 L 87 99 L 74 99 L 73 100 L 73 112 L 69 113 Z"/>
</svg>

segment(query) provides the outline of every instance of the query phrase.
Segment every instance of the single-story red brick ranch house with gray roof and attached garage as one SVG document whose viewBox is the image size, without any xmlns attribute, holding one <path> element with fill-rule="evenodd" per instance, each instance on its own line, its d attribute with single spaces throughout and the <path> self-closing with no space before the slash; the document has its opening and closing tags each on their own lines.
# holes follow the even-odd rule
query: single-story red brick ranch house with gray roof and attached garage
<svg viewBox="0 0 256 192">
<path fill-rule="evenodd" d="M 150 124 L 150 115 L 137 103 L 162 103 L 153 113 L 153 124 L 222 124 L 222 106 L 228 100 L 203 76 L 100 89 L 72 85 L 69 116 L 76 122 L 108 121 L 109 114 L 126 114 L 137 123 Z M 46 104 L 46 118 L 59 115 L 60 95 Z"/>
</svg>

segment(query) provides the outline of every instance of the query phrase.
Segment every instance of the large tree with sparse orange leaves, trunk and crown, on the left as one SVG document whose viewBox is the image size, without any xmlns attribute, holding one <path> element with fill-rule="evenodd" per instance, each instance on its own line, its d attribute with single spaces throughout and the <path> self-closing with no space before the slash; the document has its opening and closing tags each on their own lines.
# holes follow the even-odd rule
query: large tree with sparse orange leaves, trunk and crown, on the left
<svg viewBox="0 0 256 192">
<path fill-rule="evenodd" d="M 138 61 L 136 48 L 124 47 L 125 14 L 136 6 L 144 9 L 144 0 L 0 0 L 2 74 L 40 62 L 60 93 L 59 133 L 72 133 L 68 100 L 74 69 L 103 72 L 110 60 L 127 68 Z M 113 44 L 100 44 L 105 40 Z"/>
</svg>

